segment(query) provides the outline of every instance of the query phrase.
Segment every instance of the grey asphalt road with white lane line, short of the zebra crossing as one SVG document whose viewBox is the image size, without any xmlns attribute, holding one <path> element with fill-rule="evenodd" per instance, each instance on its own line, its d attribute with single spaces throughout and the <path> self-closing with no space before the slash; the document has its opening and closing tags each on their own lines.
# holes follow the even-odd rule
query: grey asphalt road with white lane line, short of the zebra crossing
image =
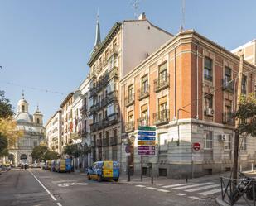
<svg viewBox="0 0 256 206">
<path fill-rule="evenodd" d="M 0 206 L 176 206 L 216 205 L 214 199 L 186 197 L 135 184 L 86 180 L 85 175 L 12 170 L 0 175 Z"/>
</svg>

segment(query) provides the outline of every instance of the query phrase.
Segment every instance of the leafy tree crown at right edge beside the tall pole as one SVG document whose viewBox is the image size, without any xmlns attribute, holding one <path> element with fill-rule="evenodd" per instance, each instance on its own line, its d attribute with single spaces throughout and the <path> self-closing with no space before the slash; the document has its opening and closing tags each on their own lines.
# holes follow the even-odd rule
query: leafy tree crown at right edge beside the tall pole
<svg viewBox="0 0 256 206">
<path fill-rule="evenodd" d="M 235 117 L 239 118 L 239 126 L 237 128 L 239 134 L 252 135 L 256 137 L 256 98 L 255 93 L 242 96 L 240 98 L 239 109 L 235 113 Z"/>
</svg>

